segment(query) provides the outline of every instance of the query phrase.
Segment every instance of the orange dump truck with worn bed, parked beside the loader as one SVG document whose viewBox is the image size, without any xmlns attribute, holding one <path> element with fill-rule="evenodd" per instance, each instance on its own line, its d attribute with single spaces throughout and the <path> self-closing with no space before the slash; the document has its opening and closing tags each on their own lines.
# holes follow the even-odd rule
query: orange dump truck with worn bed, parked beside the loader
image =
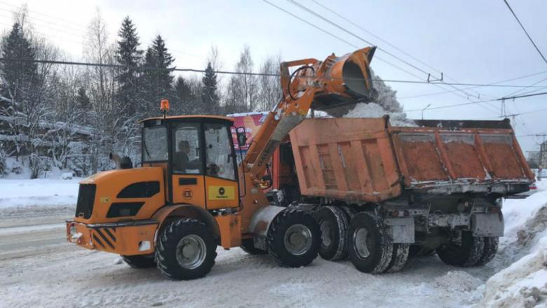
<svg viewBox="0 0 547 308">
<path fill-rule="evenodd" d="M 349 255 L 363 272 L 398 271 L 409 254 L 434 251 L 461 267 L 492 260 L 500 198 L 534 182 L 509 120 L 415 123 L 306 119 L 290 132 L 292 155 L 274 155 L 273 174 L 295 173 L 298 203 L 320 224 L 323 258 Z"/>
</svg>

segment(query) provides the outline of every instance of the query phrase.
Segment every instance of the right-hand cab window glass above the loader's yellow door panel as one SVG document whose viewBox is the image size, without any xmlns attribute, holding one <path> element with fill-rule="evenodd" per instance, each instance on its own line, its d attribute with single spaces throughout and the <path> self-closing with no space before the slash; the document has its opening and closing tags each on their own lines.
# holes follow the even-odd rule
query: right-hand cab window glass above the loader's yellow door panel
<svg viewBox="0 0 547 308">
<path fill-rule="evenodd" d="M 205 124 L 206 174 L 208 176 L 236 179 L 231 139 L 227 125 Z"/>
</svg>

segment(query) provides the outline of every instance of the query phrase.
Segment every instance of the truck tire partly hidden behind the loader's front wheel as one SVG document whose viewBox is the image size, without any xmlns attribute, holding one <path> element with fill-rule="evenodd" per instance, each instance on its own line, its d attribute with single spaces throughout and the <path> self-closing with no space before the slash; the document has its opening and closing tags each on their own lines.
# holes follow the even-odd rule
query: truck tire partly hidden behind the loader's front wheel
<svg viewBox="0 0 547 308">
<path fill-rule="evenodd" d="M 313 215 L 321 230 L 319 255 L 325 260 L 344 260 L 348 257 L 349 215 L 338 207 L 322 207 Z"/>
</svg>

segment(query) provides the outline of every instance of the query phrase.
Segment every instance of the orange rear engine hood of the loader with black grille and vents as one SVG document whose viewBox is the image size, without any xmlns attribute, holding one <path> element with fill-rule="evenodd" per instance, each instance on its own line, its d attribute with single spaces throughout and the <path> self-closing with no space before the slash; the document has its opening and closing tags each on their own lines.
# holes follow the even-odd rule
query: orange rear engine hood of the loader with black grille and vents
<svg viewBox="0 0 547 308">
<path fill-rule="evenodd" d="M 80 181 L 74 221 L 115 223 L 148 219 L 165 204 L 161 167 L 116 169 Z"/>
</svg>

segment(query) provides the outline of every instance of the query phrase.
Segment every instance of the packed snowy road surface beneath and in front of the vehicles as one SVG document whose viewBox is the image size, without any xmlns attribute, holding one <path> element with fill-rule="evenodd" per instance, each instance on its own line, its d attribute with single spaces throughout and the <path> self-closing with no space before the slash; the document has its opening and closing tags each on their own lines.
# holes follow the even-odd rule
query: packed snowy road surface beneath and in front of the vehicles
<svg viewBox="0 0 547 308">
<path fill-rule="evenodd" d="M 131 269 L 116 255 L 65 243 L 59 218 L 31 218 L 26 231 L 0 218 L 11 224 L 0 228 L 0 307 L 460 307 L 478 299 L 473 291 L 493 273 L 455 269 L 435 256 L 398 274 L 363 274 L 349 261 L 320 258 L 284 269 L 236 248 L 219 249 L 204 279 L 168 281 L 156 269 Z"/>
</svg>

